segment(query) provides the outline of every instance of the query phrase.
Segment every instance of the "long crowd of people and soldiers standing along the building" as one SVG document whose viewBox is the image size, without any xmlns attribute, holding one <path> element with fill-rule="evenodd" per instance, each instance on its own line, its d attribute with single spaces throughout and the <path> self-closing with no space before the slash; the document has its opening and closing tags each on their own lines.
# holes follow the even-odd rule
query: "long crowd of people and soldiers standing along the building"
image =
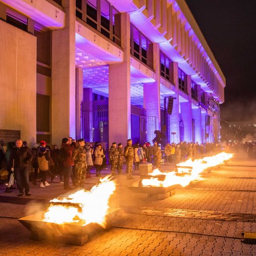
<svg viewBox="0 0 256 256">
<path fill-rule="evenodd" d="M 227 144 L 226 152 L 234 151 L 234 148 L 241 147 L 238 144 Z M 177 164 L 187 159 L 203 158 L 207 155 L 217 154 L 221 151 L 221 143 L 187 143 L 182 141 L 178 144 L 167 143 L 165 146 L 157 141 L 151 145 L 150 142 L 142 144 L 135 143 L 131 139 L 127 140 L 123 148 L 122 143 L 113 142 L 107 154 L 105 148 L 99 142 L 94 146 L 85 142 L 84 139 L 77 141 L 71 137 L 63 138 L 61 146 L 50 147 L 42 140 L 40 144 L 35 144 L 32 149 L 28 147 L 26 141 L 17 140 L 7 143 L 7 150 L 4 153 L 0 146 L 0 163 L 5 159 L 9 172 L 8 181 L 14 173 L 18 196 L 30 196 L 29 183 L 39 185 L 40 188 L 48 187 L 50 183 L 47 177 L 53 181 L 59 176 L 59 182 L 63 183 L 63 188 L 72 189 L 70 177 L 75 188 L 83 187 L 87 178 L 91 178 L 91 168 L 94 166 L 96 176 L 101 176 L 101 170 L 106 167 L 106 156 L 109 156 L 112 175 L 122 174 L 123 161 L 126 162 L 126 176 L 128 180 L 133 179 L 133 166 L 139 170 L 141 163 L 152 163 L 156 168 L 161 162 Z M 243 150 L 256 156 L 256 143 L 243 144 Z M 248 153 L 248 154 L 249 154 Z M 1 167 L 1 166 L 0 166 Z M 29 176 L 33 168 L 33 175 Z M 58 175 L 58 176 L 57 176 Z M 39 184 L 37 182 L 39 181 Z M 6 192 L 12 192 L 13 185 L 8 182 Z"/>
</svg>

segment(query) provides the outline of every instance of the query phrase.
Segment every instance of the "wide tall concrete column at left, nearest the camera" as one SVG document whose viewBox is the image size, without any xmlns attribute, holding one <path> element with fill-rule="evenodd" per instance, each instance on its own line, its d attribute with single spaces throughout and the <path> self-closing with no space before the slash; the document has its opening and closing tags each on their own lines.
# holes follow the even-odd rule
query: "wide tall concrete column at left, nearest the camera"
<svg viewBox="0 0 256 256">
<path fill-rule="evenodd" d="M 75 0 L 63 0 L 66 27 L 52 32 L 52 143 L 76 137 Z"/>
</svg>

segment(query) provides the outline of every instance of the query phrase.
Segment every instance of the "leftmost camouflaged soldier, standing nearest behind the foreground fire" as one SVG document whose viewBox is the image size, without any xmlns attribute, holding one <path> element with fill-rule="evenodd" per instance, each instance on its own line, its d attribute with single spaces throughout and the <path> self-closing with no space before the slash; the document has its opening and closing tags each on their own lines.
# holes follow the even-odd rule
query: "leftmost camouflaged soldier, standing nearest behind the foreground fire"
<svg viewBox="0 0 256 256">
<path fill-rule="evenodd" d="M 84 139 L 77 140 L 78 146 L 73 150 L 72 159 L 75 163 L 75 187 L 83 187 L 86 180 L 86 150 Z"/>
</svg>

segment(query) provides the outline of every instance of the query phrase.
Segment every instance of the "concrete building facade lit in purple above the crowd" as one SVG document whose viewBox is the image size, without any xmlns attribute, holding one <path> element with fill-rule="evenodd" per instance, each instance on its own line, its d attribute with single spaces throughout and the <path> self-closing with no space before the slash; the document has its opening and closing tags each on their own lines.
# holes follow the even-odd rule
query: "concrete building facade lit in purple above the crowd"
<svg viewBox="0 0 256 256">
<path fill-rule="evenodd" d="M 0 18 L 0 129 L 219 139 L 225 77 L 184 0 L 0 0 Z"/>
</svg>

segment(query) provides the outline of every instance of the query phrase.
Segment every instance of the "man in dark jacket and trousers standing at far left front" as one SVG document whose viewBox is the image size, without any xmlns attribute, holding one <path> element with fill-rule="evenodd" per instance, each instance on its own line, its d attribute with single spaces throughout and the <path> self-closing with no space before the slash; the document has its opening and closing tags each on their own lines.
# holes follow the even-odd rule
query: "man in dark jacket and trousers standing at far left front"
<svg viewBox="0 0 256 256">
<path fill-rule="evenodd" d="M 18 197 L 24 195 L 31 196 L 29 193 L 29 164 L 33 159 L 31 150 L 27 146 L 22 146 L 23 141 L 17 140 L 16 146 L 11 151 L 9 166 L 14 166 L 14 175 L 19 190 Z"/>
</svg>

